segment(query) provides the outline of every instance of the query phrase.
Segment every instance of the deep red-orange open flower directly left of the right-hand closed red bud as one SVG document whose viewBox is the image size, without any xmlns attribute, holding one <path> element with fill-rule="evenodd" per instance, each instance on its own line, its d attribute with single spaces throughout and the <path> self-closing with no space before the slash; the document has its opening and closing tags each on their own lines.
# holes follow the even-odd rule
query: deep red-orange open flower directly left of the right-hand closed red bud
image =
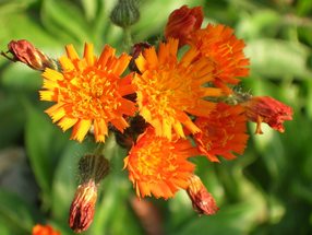
<svg viewBox="0 0 312 235">
<path fill-rule="evenodd" d="M 209 117 L 195 120 L 202 130 L 194 134 L 200 152 L 212 162 L 219 162 L 216 155 L 231 160 L 236 157 L 233 153 L 242 154 L 248 140 L 245 124 L 244 109 L 240 105 L 218 103 Z"/>
</svg>

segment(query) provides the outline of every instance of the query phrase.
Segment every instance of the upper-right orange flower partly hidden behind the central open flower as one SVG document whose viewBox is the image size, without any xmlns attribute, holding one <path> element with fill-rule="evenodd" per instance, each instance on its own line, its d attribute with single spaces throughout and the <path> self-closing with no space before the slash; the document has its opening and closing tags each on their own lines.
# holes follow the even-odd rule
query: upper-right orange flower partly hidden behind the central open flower
<svg viewBox="0 0 312 235">
<path fill-rule="evenodd" d="M 208 24 L 192 34 L 190 44 L 214 64 L 214 84 L 225 92 L 231 93 L 227 83 L 238 84 L 238 77 L 249 74 L 249 59 L 243 54 L 244 42 L 233 35 L 232 28 Z"/>
</svg>

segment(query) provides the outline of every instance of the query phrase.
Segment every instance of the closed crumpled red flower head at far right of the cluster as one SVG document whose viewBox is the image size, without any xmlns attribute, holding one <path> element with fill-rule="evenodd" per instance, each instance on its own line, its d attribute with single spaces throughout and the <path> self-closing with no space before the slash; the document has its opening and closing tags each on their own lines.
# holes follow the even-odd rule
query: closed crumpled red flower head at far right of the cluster
<svg viewBox="0 0 312 235">
<path fill-rule="evenodd" d="M 285 120 L 292 120 L 291 107 L 269 96 L 255 96 L 242 104 L 249 120 L 256 122 L 255 133 L 263 133 L 261 124 L 266 122 L 274 130 L 284 132 Z"/>
</svg>

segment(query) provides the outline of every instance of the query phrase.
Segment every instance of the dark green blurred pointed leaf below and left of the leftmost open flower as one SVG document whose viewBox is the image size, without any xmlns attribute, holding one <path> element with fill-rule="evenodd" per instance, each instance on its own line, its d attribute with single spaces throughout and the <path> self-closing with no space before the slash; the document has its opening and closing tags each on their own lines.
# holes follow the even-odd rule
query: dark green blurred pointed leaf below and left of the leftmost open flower
<svg viewBox="0 0 312 235">
<path fill-rule="evenodd" d="M 52 125 L 43 110 L 27 106 L 25 144 L 36 180 L 43 190 L 44 203 L 49 207 L 55 168 L 68 142 L 68 134 Z"/>
</svg>

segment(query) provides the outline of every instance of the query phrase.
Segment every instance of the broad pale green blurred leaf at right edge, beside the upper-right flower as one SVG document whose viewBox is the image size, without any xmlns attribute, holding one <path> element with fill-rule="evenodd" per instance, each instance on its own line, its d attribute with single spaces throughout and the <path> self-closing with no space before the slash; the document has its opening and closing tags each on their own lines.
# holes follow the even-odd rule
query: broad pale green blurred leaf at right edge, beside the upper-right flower
<svg viewBox="0 0 312 235">
<path fill-rule="evenodd" d="M 248 43 L 252 72 L 264 77 L 312 77 L 307 69 L 310 50 L 301 44 L 280 39 L 256 39 Z"/>
</svg>

